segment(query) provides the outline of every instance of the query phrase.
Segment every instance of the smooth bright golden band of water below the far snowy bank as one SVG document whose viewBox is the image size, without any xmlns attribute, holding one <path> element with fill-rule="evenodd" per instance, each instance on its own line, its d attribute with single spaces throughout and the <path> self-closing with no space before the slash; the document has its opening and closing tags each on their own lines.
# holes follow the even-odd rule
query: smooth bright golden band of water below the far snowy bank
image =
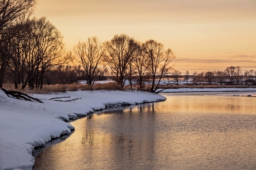
<svg viewBox="0 0 256 170">
<path fill-rule="evenodd" d="M 249 100 L 248 97 L 233 96 L 227 98 L 226 96 L 216 96 L 213 100 L 205 102 L 201 101 L 201 96 L 187 96 L 168 98 L 169 104 L 163 107 L 163 112 L 173 113 L 207 113 L 207 114 L 236 114 L 246 113 L 254 115 L 256 113 L 254 101 Z M 175 101 L 174 101 L 175 100 Z M 221 103 L 221 104 L 219 104 Z"/>
</svg>

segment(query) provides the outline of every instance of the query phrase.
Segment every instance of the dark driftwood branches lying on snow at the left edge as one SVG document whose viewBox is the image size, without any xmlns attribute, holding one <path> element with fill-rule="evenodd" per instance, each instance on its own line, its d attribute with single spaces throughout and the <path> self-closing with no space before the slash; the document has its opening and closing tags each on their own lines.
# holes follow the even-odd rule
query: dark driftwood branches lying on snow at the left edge
<svg viewBox="0 0 256 170">
<path fill-rule="evenodd" d="M 31 96 L 27 95 L 26 93 L 14 91 L 14 90 L 7 90 L 5 88 L 1 88 L 1 90 L 3 90 L 4 93 L 7 94 L 7 96 L 12 96 L 13 98 L 17 98 L 17 99 L 25 100 L 25 101 L 37 101 L 39 103 L 43 103 L 38 98 L 31 97 Z"/>
</svg>

